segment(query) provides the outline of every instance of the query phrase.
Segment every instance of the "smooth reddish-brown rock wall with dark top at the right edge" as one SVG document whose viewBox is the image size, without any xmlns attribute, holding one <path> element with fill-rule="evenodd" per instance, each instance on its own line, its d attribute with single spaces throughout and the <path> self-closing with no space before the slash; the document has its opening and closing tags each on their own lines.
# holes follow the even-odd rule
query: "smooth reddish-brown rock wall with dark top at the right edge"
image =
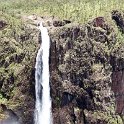
<svg viewBox="0 0 124 124">
<path fill-rule="evenodd" d="M 116 112 L 124 115 L 124 44 L 111 53 L 112 65 L 112 90 L 116 98 Z"/>
</svg>

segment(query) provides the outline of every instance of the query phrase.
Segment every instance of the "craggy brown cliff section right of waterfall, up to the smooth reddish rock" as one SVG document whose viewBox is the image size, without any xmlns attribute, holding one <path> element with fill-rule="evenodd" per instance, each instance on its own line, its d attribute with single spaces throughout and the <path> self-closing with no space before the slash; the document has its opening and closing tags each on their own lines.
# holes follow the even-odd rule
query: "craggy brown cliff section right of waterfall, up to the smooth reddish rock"
<svg viewBox="0 0 124 124">
<path fill-rule="evenodd" d="M 120 87 L 113 81 L 115 62 L 110 56 L 115 43 L 114 30 L 102 17 L 83 26 L 58 27 L 51 33 L 54 124 L 122 123 L 112 90 Z"/>
</svg>

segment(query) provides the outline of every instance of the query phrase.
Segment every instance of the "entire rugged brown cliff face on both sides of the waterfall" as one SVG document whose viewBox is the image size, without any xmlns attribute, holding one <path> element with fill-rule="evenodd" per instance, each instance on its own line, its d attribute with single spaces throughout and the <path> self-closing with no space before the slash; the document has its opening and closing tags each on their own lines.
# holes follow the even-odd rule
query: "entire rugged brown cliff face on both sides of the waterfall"
<svg viewBox="0 0 124 124">
<path fill-rule="evenodd" d="M 112 26 L 103 17 L 86 25 L 53 24 L 49 28 L 53 124 L 123 124 L 124 46 L 117 45 Z M 24 124 L 33 124 L 38 35 L 27 25 L 18 35 L 0 40 L 0 94 Z"/>
</svg>

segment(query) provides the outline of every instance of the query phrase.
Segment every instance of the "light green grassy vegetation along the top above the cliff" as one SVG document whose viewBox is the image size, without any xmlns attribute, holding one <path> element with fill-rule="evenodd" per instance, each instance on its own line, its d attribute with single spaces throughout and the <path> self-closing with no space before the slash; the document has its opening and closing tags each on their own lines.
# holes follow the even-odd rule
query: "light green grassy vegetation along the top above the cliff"
<svg viewBox="0 0 124 124">
<path fill-rule="evenodd" d="M 0 11 L 15 14 L 51 15 L 76 22 L 108 16 L 113 9 L 123 10 L 122 0 L 1 0 Z"/>
</svg>

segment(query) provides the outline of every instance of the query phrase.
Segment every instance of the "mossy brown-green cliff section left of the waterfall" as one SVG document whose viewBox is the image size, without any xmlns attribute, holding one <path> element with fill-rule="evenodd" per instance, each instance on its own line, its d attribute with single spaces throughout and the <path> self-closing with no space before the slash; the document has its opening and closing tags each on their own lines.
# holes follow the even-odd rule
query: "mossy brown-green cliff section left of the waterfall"
<svg viewBox="0 0 124 124">
<path fill-rule="evenodd" d="M 7 25 L 0 31 L 0 103 L 15 111 L 21 122 L 31 124 L 39 31 L 24 24 L 20 32 L 11 34 Z"/>
</svg>

